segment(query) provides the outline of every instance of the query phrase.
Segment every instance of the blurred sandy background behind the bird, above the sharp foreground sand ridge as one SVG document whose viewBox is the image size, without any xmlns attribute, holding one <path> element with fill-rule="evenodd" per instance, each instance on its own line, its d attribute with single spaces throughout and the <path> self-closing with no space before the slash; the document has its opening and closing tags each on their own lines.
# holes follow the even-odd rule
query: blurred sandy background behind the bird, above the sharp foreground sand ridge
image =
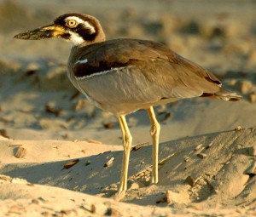
<svg viewBox="0 0 256 217">
<path fill-rule="evenodd" d="M 0 1 L 0 128 L 13 139 L 101 140 L 119 144 L 112 115 L 90 106 L 66 77 L 71 44 L 13 36 L 68 12 L 95 15 L 108 38 L 165 43 L 244 96 L 240 104 L 183 100 L 156 108 L 161 141 L 255 125 L 254 1 Z M 248 118 L 248 114 L 250 117 Z M 145 111 L 128 116 L 134 142 L 148 142 Z M 137 128 L 138 127 L 138 128 Z M 106 130 L 107 128 L 107 130 Z"/>
</svg>

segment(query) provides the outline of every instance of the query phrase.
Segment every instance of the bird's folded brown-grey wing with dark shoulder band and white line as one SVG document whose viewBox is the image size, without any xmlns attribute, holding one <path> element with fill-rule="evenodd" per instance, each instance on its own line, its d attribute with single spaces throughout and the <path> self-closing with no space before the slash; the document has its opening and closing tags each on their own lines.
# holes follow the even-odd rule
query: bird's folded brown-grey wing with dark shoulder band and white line
<svg viewBox="0 0 256 217">
<path fill-rule="evenodd" d="M 79 87 L 96 100 L 183 99 L 216 93 L 221 86 L 212 73 L 160 43 L 112 40 L 84 47 L 80 54 L 74 75 Z"/>
</svg>

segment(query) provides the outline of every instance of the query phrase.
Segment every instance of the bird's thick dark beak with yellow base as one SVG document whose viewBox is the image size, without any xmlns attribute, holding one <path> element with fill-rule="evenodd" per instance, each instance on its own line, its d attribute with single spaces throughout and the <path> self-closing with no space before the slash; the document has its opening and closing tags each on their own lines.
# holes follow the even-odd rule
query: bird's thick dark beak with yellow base
<svg viewBox="0 0 256 217">
<path fill-rule="evenodd" d="M 63 27 L 52 24 L 49 26 L 39 27 L 31 31 L 20 32 L 15 38 L 25 40 L 40 40 L 44 38 L 59 37 L 65 33 Z"/>
</svg>

